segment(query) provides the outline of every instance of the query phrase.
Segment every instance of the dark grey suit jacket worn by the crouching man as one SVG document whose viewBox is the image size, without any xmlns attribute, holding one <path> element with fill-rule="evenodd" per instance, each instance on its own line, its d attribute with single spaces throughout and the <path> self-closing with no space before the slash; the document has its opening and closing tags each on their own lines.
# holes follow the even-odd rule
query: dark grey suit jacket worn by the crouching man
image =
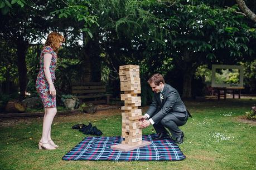
<svg viewBox="0 0 256 170">
<path fill-rule="evenodd" d="M 188 119 L 186 106 L 175 88 L 165 83 L 162 96 L 161 102 L 160 93 L 154 93 L 152 104 L 146 112 L 154 123 L 160 122 L 166 114 L 173 114 L 181 121 Z"/>
</svg>

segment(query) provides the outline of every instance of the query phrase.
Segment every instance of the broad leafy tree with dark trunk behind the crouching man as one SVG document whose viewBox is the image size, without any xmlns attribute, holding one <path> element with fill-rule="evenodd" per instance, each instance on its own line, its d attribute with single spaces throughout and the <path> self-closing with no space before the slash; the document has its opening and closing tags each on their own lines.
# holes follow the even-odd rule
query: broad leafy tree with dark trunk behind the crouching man
<svg viewBox="0 0 256 170">
<path fill-rule="evenodd" d="M 237 13 L 237 7 L 216 6 L 204 1 L 179 1 L 168 8 L 156 1 L 145 4 L 142 3 L 141 9 L 151 13 L 154 21 L 143 23 L 145 20 L 141 22 L 139 17 L 127 18 L 144 26 L 144 34 L 138 42 L 147 44 L 144 52 L 153 58 L 151 66 L 156 63 L 161 67 L 159 60 L 170 63 L 168 58 L 173 58 L 171 62 L 183 77 L 183 98 L 191 98 L 192 76 L 202 64 L 235 64 L 252 59 L 254 51 L 250 44 L 255 42 L 256 32 L 246 18 Z M 150 33 L 152 35 L 148 36 Z"/>
</svg>

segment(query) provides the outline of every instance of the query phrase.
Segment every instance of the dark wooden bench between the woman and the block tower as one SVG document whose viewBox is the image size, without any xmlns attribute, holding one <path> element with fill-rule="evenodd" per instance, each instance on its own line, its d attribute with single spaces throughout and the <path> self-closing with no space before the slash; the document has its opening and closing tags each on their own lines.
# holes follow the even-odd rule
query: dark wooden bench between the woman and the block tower
<svg viewBox="0 0 256 170">
<path fill-rule="evenodd" d="M 72 94 L 75 94 L 80 103 L 109 104 L 111 94 L 106 94 L 106 87 L 100 82 L 74 84 Z"/>
</svg>

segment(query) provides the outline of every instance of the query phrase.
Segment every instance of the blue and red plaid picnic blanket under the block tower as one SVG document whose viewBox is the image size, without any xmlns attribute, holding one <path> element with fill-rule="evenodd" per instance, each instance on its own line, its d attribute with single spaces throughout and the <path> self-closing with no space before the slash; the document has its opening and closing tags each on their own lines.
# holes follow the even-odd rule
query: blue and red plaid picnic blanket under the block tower
<svg viewBox="0 0 256 170">
<path fill-rule="evenodd" d="M 123 138 L 120 136 L 86 137 L 62 159 L 65 161 L 180 161 L 186 158 L 172 139 L 153 140 L 152 137 L 156 135 L 143 135 L 143 141 L 151 141 L 152 144 L 128 152 L 110 148 L 114 144 L 121 143 Z"/>
</svg>

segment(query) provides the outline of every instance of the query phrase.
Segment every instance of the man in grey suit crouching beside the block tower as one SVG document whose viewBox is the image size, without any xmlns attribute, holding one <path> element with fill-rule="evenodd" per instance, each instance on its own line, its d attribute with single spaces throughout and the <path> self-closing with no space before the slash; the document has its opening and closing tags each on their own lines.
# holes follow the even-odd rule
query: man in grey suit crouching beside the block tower
<svg viewBox="0 0 256 170">
<path fill-rule="evenodd" d="M 171 137 L 167 128 L 176 144 L 183 143 L 184 133 L 178 127 L 186 124 L 191 115 L 182 102 L 180 94 L 175 88 L 166 84 L 159 73 L 153 74 L 148 79 L 148 84 L 154 92 L 154 97 L 148 111 L 142 116 L 141 128 L 153 124 L 158 133 L 155 139 L 168 139 Z"/>
</svg>

